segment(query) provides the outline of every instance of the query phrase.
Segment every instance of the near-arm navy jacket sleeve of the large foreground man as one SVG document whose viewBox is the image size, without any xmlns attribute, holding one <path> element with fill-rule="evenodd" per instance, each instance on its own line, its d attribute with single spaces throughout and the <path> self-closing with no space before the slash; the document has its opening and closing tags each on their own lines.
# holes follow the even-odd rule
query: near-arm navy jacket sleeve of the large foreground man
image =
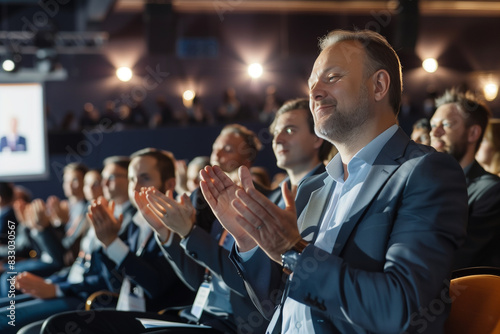
<svg viewBox="0 0 500 334">
<path fill-rule="evenodd" d="M 413 315 L 442 298 L 465 237 L 463 172 L 439 153 L 404 165 L 375 196 L 340 254 L 306 247 L 290 298 L 322 318 L 381 333 L 408 328 Z"/>
</svg>

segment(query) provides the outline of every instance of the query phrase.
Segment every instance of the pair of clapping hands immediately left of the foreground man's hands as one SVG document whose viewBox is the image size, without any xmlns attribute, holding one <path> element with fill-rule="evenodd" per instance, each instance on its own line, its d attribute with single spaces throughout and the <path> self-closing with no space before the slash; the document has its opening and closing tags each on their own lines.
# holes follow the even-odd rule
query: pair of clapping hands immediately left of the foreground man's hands
<svg viewBox="0 0 500 334">
<path fill-rule="evenodd" d="M 189 197 L 184 194 L 176 201 L 173 196 L 171 190 L 163 194 L 154 187 L 135 192 L 137 207 L 162 242 L 168 239 L 170 231 L 185 238 L 195 221 L 195 209 Z"/>
</svg>

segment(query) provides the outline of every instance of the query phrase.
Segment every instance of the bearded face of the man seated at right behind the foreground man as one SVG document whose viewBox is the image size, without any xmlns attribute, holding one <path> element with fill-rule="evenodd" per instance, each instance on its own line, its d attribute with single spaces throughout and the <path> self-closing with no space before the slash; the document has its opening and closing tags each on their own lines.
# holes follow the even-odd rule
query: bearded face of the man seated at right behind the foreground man
<svg viewBox="0 0 500 334">
<path fill-rule="evenodd" d="M 431 145 L 448 153 L 458 162 L 467 153 L 467 127 L 455 104 L 440 106 L 431 118 Z"/>
</svg>

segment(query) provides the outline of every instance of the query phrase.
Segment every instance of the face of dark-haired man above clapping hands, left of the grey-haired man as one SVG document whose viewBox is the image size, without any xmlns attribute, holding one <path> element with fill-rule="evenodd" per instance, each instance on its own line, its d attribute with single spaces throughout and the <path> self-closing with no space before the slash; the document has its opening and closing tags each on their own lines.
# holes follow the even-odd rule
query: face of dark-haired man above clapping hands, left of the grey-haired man
<svg viewBox="0 0 500 334">
<path fill-rule="evenodd" d="M 139 192 L 142 187 L 155 187 L 163 193 L 167 190 L 161 181 L 158 162 L 154 157 L 139 156 L 130 162 L 128 167 L 128 197 L 134 206 L 137 206 L 134 200 L 134 191 Z"/>
</svg>

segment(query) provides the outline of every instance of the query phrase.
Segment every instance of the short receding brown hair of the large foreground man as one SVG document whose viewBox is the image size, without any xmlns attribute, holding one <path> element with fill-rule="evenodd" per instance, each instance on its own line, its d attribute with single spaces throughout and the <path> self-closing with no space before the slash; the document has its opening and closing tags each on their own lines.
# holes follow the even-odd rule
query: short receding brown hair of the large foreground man
<svg viewBox="0 0 500 334">
<path fill-rule="evenodd" d="M 329 46 L 343 41 L 358 41 L 363 46 L 368 63 L 365 66 L 365 75 L 371 75 L 378 70 L 386 70 L 391 78 L 389 87 L 389 102 L 394 114 L 398 114 L 403 92 L 403 74 L 398 54 L 387 42 L 384 36 L 371 30 L 333 30 L 319 41 L 321 51 Z"/>
</svg>

